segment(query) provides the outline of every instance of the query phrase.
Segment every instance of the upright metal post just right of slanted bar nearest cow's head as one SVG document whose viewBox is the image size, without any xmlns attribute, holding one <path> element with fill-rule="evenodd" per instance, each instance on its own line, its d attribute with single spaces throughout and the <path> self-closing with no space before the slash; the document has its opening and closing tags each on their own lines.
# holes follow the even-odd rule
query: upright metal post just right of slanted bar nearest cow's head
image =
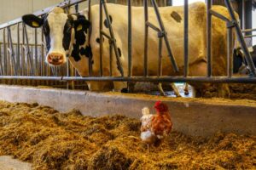
<svg viewBox="0 0 256 170">
<path fill-rule="evenodd" d="M 131 26 L 131 0 L 128 0 L 128 77 L 131 77 L 132 67 L 132 26 Z"/>
</svg>

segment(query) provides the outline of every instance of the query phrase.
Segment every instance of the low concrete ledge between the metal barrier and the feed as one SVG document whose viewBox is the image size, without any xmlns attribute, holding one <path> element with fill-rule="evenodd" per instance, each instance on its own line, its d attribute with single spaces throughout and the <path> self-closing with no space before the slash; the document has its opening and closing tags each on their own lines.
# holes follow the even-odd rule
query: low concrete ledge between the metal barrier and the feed
<svg viewBox="0 0 256 170">
<path fill-rule="evenodd" d="M 139 118 L 148 106 L 154 113 L 154 102 L 169 105 L 174 129 L 207 137 L 218 131 L 256 134 L 256 101 L 227 99 L 177 99 L 144 94 L 91 93 L 55 88 L 0 86 L 0 99 L 49 105 L 58 111 L 78 109 L 85 116 L 121 114 Z"/>
</svg>

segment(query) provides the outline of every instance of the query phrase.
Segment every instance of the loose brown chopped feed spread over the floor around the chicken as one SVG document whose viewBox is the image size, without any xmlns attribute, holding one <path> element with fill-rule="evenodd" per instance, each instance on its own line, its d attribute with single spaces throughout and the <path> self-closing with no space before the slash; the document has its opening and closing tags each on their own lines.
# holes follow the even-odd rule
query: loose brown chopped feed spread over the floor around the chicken
<svg viewBox="0 0 256 170">
<path fill-rule="evenodd" d="M 216 133 L 201 139 L 173 131 L 147 153 L 139 128 L 137 119 L 126 116 L 0 102 L 0 155 L 40 170 L 256 168 L 255 136 Z"/>
</svg>

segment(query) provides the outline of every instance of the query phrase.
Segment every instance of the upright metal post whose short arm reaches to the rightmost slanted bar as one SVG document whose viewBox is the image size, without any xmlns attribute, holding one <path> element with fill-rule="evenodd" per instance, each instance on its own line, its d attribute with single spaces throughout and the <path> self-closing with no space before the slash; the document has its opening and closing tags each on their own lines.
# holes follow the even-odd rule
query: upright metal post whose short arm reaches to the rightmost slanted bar
<svg viewBox="0 0 256 170">
<path fill-rule="evenodd" d="M 212 77 L 212 0 L 207 0 L 207 77 Z"/>
</svg>

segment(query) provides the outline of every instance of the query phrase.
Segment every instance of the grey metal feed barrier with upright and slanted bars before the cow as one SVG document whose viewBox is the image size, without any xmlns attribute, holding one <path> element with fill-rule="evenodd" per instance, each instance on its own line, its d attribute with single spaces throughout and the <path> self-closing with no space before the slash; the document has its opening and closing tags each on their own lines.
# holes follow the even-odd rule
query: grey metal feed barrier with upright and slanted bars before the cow
<svg viewBox="0 0 256 170">
<path fill-rule="evenodd" d="M 88 3 L 90 11 L 90 0 L 70 0 L 64 3 L 58 4 L 61 8 L 70 8 L 71 6 L 76 7 L 76 11 L 79 10 L 79 3 Z M 170 42 L 168 42 L 166 36 L 166 29 L 161 20 L 160 12 L 158 10 L 157 3 L 155 0 L 151 0 L 152 7 L 156 14 L 156 18 L 159 22 L 159 26 L 154 26 L 148 20 L 148 1 L 144 0 L 144 18 L 145 18 L 145 43 L 144 43 L 144 75 L 143 77 L 134 77 L 131 74 L 131 65 L 132 65 L 132 14 L 131 14 L 131 0 L 128 0 L 128 76 L 125 77 L 123 67 L 119 61 L 119 52 L 117 44 L 114 40 L 114 31 L 111 26 L 110 18 L 108 15 L 108 6 L 106 5 L 105 0 L 100 0 L 100 73 L 99 77 L 91 77 L 92 75 L 92 65 L 89 62 L 89 77 L 79 77 L 79 74 L 74 70 L 74 68 L 67 62 L 67 65 L 58 66 L 58 67 L 49 67 L 44 63 L 45 59 L 45 42 L 44 34 L 41 29 L 31 29 L 26 27 L 21 19 L 13 20 L 8 23 L 5 23 L 0 26 L 0 80 L 19 80 L 19 81 L 37 81 L 40 84 L 40 81 L 54 81 L 52 83 L 56 85 L 68 86 L 68 83 L 73 81 L 125 81 L 125 82 L 247 82 L 255 83 L 256 82 L 256 71 L 255 65 L 253 65 L 253 59 L 250 56 L 242 31 L 235 17 L 235 13 L 231 7 L 230 0 L 225 0 L 226 7 L 229 10 L 231 20 L 227 19 L 221 14 L 212 10 L 211 0 L 207 0 L 207 77 L 189 77 L 189 8 L 188 0 L 184 1 L 184 73 L 183 77 L 162 77 L 161 76 L 161 50 L 163 43 L 166 44 L 167 52 L 171 59 L 172 68 L 174 71 L 178 71 L 177 63 L 175 56 L 172 55 L 172 47 Z M 45 8 L 42 11 L 35 13 L 38 16 L 47 14 L 53 7 Z M 103 13 L 106 14 L 108 20 L 109 32 L 104 32 L 102 29 L 102 20 Z M 226 77 L 212 77 L 212 16 L 218 17 L 221 20 L 224 20 L 228 28 L 228 50 L 227 50 L 227 76 Z M 90 20 L 90 13 L 89 13 Z M 151 28 L 154 31 L 158 32 L 159 38 L 159 62 L 158 62 L 158 75 L 155 77 L 148 76 L 148 29 Z M 14 31 L 16 30 L 16 35 Z M 233 77 L 233 58 L 232 58 L 232 29 L 236 29 L 236 34 L 239 42 L 241 43 L 241 48 L 247 59 L 247 64 L 250 70 L 249 77 Z M 250 30 L 250 31 L 255 31 Z M 102 69 L 102 49 L 103 37 L 107 37 L 109 40 L 109 54 L 110 54 L 110 74 L 108 77 L 103 77 Z M 253 36 L 252 36 L 253 37 Z M 119 71 L 121 77 L 113 77 L 112 75 L 112 60 L 113 60 L 113 51 L 117 59 L 117 65 L 119 66 Z M 90 58 L 91 59 L 91 58 Z M 171 66 L 171 65 L 170 65 Z M 46 84 L 46 85 L 49 85 Z M 52 84 L 51 84 L 52 85 Z"/>
</svg>

